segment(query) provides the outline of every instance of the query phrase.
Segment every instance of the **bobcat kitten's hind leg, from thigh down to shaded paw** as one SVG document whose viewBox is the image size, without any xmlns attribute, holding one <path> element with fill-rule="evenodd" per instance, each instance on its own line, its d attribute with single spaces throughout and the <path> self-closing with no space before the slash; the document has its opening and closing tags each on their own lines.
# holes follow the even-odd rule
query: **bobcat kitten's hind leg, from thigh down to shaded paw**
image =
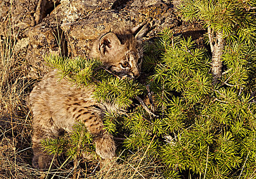
<svg viewBox="0 0 256 179">
<path fill-rule="evenodd" d="M 52 119 L 41 119 L 40 122 L 38 122 L 36 118 L 34 118 L 32 136 L 32 149 L 34 157 L 32 164 L 35 168 L 38 169 L 48 169 L 53 160 L 53 155 L 50 155 L 44 151 L 41 145 L 42 139 L 52 139 L 58 136 L 58 129 L 52 125 L 51 120 Z M 54 168 L 54 166 L 51 166 L 51 168 Z"/>
</svg>

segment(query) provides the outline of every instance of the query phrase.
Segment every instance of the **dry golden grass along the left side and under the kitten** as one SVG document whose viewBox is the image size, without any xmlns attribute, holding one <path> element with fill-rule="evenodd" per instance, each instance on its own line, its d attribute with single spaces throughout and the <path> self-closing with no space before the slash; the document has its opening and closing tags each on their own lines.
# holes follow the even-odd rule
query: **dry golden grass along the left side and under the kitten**
<svg viewBox="0 0 256 179">
<path fill-rule="evenodd" d="M 142 150 L 117 158 L 103 170 L 99 160 L 72 162 L 62 157 L 57 170 L 40 172 L 32 167 L 32 117 L 26 99 L 34 80 L 27 78 L 27 49 L 16 50 L 19 32 L 12 24 L 9 12 L 0 23 L 0 178 L 161 178 L 159 162 Z"/>
</svg>

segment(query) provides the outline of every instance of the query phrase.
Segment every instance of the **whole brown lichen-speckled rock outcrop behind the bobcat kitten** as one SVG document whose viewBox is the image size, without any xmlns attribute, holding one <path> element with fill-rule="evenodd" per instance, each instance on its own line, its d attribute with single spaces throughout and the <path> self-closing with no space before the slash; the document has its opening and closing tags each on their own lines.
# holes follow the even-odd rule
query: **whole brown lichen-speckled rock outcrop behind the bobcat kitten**
<svg viewBox="0 0 256 179">
<path fill-rule="evenodd" d="M 7 0 L 1 2 L 8 4 Z M 176 6 L 180 0 L 174 2 Z M 152 40 L 164 28 L 177 34 L 190 31 L 168 0 L 16 0 L 13 8 L 17 27 L 26 31 L 22 33 L 24 37 L 29 37 L 27 61 L 31 78 L 42 77 L 48 71 L 45 54 L 87 57 L 93 41 L 109 29 L 148 24 L 144 40 Z M 8 11 L 4 8 L 0 18 Z"/>
</svg>

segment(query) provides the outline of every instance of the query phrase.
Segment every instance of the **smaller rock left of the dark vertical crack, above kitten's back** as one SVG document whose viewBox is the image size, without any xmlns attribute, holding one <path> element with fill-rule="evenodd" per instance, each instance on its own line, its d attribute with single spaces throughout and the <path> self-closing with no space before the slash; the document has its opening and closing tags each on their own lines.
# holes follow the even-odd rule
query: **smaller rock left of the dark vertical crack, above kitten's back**
<svg viewBox="0 0 256 179">
<path fill-rule="evenodd" d="M 62 23 L 62 13 L 57 11 L 45 17 L 39 25 L 31 28 L 28 34 L 30 39 L 27 62 L 30 66 L 29 77 L 40 78 L 49 71 L 44 62 L 44 56 L 47 54 L 64 55 L 64 35 L 60 28 Z"/>
</svg>

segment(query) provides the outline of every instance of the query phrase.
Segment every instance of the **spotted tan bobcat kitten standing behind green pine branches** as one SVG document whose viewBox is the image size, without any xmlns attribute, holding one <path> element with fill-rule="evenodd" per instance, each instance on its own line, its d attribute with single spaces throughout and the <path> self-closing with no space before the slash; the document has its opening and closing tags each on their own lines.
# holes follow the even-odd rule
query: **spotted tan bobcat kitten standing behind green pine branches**
<svg viewBox="0 0 256 179">
<path fill-rule="evenodd" d="M 136 78 L 140 75 L 141 37 L 146 27 L 135 27 L 101 35 L 93 44 L 91 57 L 99 57 L 105 68 L 118 76 Z M 47 74 L 32 90 L 29 103 L 33 113 L 33 165 L 46 169 L 52 156 L 42 150 L 41 140 L 57 137 L 61 130 L 71 131 L 76 122 L 83 122 L 94 136 L 96 153 L 103 159 L 115 156 L 115 142 L 104 130 L 104 111 L 119 110 L 113 103 L 97 103 L 93 87 L 80 88 L 62 79 L 57 70 Z"/>
</svg>

